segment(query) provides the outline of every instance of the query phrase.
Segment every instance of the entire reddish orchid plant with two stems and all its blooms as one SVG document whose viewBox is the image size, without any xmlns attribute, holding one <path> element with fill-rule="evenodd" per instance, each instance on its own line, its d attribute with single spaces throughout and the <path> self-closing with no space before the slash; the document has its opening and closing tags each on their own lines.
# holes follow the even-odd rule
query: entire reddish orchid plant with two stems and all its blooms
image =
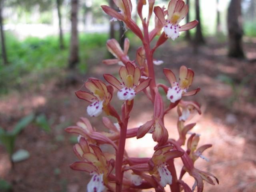
<svg viewBox="0 0 256 192">
<path fill-rule="evenodd" d="M 66 128 L 66 131 L 78 134 L 78 143 L 74 146 L 74 153 L 78 162 L 70 165 L 74 170 L 88 172 L 92 178 L 87 185 L 88 192 L 128 192 L 141 191 L 154 188 L 156 192 L 164 191 L 169 186 L 171 191 L 191 192 L 197 188 L 202 192 L 204 182 L 214 185 L 212 178 L 218 179 L 211 173 L 195 168 L 194 162 L 198 158 L 208 161 L 202 153 L 212 145 L 205 144 L 197 147 L 200 136 L 191 133 L 196 123 L 187 124 L 194 112 L 201 114 L 200 105 L 195 101 L 184 100 L 200 91 L 200 88 L 188 90 L 192 85 L 194 72 L 186 66 L 180 67 L 179 78 L 176 78 L 172 70 L 164 68 L 167 84 L 157 83 L 155 70 L 162 60 L 154 58 L 155 50 L 164 44 L 169 38 L 175 40 L 179 33 L 190 30 L 197 25 L 197 21 L 189 22 L 183 26 L 179 22 L 188 13 L 188 6 L 182 0 L 170 0 L 167 10 L 163 7 L 154 6 L 154 0 L 138 0 L 137 12 L 142 22 L 142 29 L 132 20 L 131 0 L 114 0 L 119 12 L 103 5 L 106 14 L 112 16 L 111 22 L 120 20 L 126 28 L 130 29 L 142 43 L 136 52 L 136 60 L 132 61 L 128 56 L 130 41 L 124 42 L 124 50 L 118 41 L 110 39 L 106 46 L 113 54 L 114 59 L 103 60 L 106 65 L 118 64 L 119 78 L 112 74 L 103 74 L 106 82 L 89 78 L 85 83 L 86 91 L 78 90 L 76 96 L 89 104 L 86 112 L 91 118 L 98 118 L 102 114 L 103 125 L 107 131 L 97 131 L 87 118 L 80 118 L 76 126 Z M 142 16 L 142 8 L 148 3 L 148 16 Z M 155 14 L 155 28 L 149 31 L 149 23 L 152 14 Z M 147 19 L 146 19 L 147 18 Z M 152 40 L 158 36 L 153 48 L 150 47 Z M 154 66 L 156 65 L 156 66 Z M 108 84 L 107 84 L 108 83 Z M 168 102 L 160 95 L 159 88 L 165 92 Z M 138 94 L 148 98 L 154 110 L 152 118 L 137 128 L 129 128 L 130 114 L 133 113 L 134 100 Z M 115 108 L 118 103 L 113 103 L 112 98 L 117 97 L 122 101 L 121 113 Z M 165 115 L 177 108 L 177 139 L 169 138 L 172 132 L 164 125 Z M 110 118 L 112 116 L 115 122 Z M 170 130 L 170 129 L 169 129 Z M 157 142 L 154 146 L 154 154 L 150 157 L 131 157 L 125 150 L 126 139 L 135 137 L 140 139 L 146 134 L 152 134 L 152 139 Z M 190 134 L 189 138 L 188 134 Z M 186 150 L 184 145 L 186 145 Z M 139 147 L 139 146 L 138 146 Z M 177 175 L 174 158 L 181 158 L 183 168 Z M 195 179 L 193 186 L 188 186 L 182 177 L 188 172 Z"/>
</svg>

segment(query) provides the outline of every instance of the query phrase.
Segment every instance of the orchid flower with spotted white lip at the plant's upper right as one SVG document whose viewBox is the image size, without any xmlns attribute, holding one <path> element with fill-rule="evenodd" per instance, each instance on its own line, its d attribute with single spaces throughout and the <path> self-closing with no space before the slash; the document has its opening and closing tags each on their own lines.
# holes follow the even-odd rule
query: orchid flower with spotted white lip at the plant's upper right
<svg viewBox="0 0 256 192">
<path fill-rule="evenodd" d="M 190 30 L 198 24 L 198 21 L 194 20 L 183 26 L 179 25 L 180 21 L 188 14 L 188 5 L 185 5 L 182 0 L 171 0 L 167 12 L 168 16 L 165 20 L 163 10 L 159 6 L 154 8 L 154 13 L 164 26 L 166 36 L 172 38 L 172 40 L 178 38 L 181 31 Z"/>
</svg>

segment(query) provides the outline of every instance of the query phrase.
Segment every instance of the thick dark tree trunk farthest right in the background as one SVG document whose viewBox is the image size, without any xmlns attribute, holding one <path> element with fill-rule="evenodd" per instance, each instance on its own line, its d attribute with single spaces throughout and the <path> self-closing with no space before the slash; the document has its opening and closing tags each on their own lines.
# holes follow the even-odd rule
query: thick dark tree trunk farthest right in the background
<svg viewBox="0 0 256 192">
<path fill-rule="evenodd" d="M 228 7 L 228 56 L 244 58 L 242 37 L 241 0 L 231 0 Z"/>
</svg>

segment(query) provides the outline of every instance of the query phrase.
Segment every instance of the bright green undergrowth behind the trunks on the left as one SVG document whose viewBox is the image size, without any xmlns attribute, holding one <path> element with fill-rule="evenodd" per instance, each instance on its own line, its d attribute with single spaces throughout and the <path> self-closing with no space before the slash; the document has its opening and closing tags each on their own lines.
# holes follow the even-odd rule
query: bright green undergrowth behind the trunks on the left
<svg viewBox="0 0 256 192">
<path fill-rule="evenodd" d="M 64 44 L 66 45 L 64 50 L 59 48 L 58 36 L 48 36 L 44 39 L 29 37 L 19 41 L 10 32 L 5 34 L 10 64 L 5 66 L 0 60 L 0 94 L 8 92 L 10 88 L 39 83 L 44 81 L 42 78 L 60 75 L 60 69 L 68 66 L 69 34 L 64 36 Z M 90 51 L 105 46 L 107 38 L 107 34 L 79 35 L 81 59 L 78 68 L 80 72 L 87 72 L 86 59 L 90 57 Z M 56 71 L 58 72 L 56 73 Z M 36 80 L 28 78 L 32 74 L 36 75 Z"/>
</svg>

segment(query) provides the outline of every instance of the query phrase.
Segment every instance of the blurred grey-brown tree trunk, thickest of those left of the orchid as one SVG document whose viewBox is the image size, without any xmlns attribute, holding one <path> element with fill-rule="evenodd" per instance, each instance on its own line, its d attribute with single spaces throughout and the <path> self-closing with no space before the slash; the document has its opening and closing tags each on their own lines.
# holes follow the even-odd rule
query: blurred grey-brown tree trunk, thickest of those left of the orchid
<svg viewBox="0 0 256 192">
<path fill-rule="evenodd" d="M 70 56 L 68 68 L 74 69 L 78 63 L 78 32 L 77 32 L 77 12 L 78 0 L 71 0 L 71 38 L 70 38 Z"/>
</svg>

